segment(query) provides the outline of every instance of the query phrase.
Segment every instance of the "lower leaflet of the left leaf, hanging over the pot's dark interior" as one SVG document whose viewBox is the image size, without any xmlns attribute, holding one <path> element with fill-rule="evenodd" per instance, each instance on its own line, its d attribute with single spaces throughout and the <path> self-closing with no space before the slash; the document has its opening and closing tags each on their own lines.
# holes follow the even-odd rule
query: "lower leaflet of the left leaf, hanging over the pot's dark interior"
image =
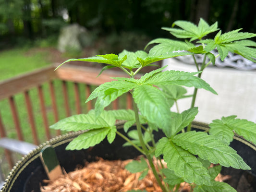
<svg viewBox="0 0 256 192">
<path fill-rule="evenodd" d="M 107 136 L 109 132 L 110 132 L 109 127 L 89 130 L 88 132 L 84 132 L 78 137 L 74 138 L 73 141 L 71 141 L 67 145 L 66 149 L 67 150 L 87 149 L 103 141 L 103 139 Z"/>
</svg>

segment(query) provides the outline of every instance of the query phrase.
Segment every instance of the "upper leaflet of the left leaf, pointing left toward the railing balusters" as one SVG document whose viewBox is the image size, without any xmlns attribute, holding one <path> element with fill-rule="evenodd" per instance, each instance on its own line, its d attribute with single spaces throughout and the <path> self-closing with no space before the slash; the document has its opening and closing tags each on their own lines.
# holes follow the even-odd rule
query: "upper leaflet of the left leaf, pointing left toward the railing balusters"
<svg viewBox="0 0 256 192">
<path fill-rule="evenodd" d="M 50 126 L 52 129 L 60 129 L 62 131 L 80 131 L 98 129 L 102 127 L 111 127 L 115 124 L 115 119 L 103 111 L 98 118 L 95 111 L 91 110 L 88 114 L 79 114 L 67 117 Z"/>
</svg>

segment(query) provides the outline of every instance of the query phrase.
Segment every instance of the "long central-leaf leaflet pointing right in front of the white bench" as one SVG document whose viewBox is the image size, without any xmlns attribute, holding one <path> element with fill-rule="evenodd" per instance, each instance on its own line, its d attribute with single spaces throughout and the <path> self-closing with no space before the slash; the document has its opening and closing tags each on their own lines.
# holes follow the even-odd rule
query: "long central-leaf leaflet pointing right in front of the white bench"
<svg viewBox="0 0 256 192">
<path fill-rule="evenodd" d="M 158 72 L 152 77 L 148 78 L 144 84 L 154 84 L 154 85 L 184 85 L 187 87 L 203 88 L 217 95 L 209 84 L 207 84 L 201 78 L 194 76 L 199 72 L 179 72 L 179 71 L 165 71 Z"/>
</svg>

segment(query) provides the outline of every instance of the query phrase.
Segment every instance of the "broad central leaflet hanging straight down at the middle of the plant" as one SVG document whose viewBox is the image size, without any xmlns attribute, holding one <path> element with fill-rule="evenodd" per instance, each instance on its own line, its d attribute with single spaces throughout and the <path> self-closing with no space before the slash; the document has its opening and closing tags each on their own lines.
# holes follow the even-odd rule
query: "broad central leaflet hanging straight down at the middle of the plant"
<svg viewBox="0 0 256 192">
<path fill-rule="evenodd" d="M 143 116 L 158 125 L 163 131 L 170 127 L 170 108 L 165 104 L 163 93 L 151 85 L 140 85 L 134 89 L 134 101 Z M 160 120 L 161 119 L 161 120 Z"/>
</svg>

